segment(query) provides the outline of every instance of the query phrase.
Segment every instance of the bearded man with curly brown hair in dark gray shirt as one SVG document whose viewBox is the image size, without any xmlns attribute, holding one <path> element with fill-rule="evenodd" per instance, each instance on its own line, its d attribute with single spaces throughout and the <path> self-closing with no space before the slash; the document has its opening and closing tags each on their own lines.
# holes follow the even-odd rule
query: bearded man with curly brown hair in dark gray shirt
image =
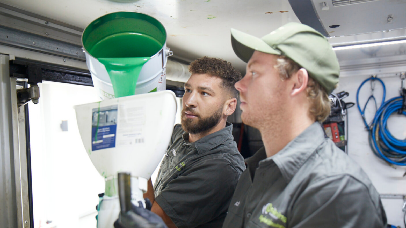
<svg viewBox="0 0 406 228">
<path fill-rule="evenodd" d="M 175 125 L 154 186 L 144 196 L 169 228 L 221 227 L 245 169 L 232 125 L 240 72 L 230 62 L 203 57 L 189 66 L 181 124 Z"/>
</svg>

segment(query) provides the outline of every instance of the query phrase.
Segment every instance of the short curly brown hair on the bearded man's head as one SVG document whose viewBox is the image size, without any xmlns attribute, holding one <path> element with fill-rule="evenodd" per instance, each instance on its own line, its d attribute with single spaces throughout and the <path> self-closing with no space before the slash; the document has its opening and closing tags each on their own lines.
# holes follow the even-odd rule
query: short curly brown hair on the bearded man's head
<svg viewBox="0 0 406 228">
<path fill-rule="evenodd" d="M 240 71 L 234 69 L 231 62 L 205 56 L 191 62 L 189 72 L 192 74 L 207 74 L 220 77 L 223 81 L 220 87 L 229 90 L 234 98 L 238 97 L 238 91 L 235 89 L 234 84 L 240 81 L 242 76 Z"/>
</svg>

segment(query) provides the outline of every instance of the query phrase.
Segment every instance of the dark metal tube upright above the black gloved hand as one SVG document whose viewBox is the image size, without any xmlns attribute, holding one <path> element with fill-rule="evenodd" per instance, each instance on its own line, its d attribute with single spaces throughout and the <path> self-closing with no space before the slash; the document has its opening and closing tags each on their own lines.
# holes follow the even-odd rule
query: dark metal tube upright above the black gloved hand
<svg viewBox="0 0 406 228">
<path fill-rule="evenodd" d="M 131 204 L 131 174 L 129 172 L 119 172 L 119 200 L 121 212 L 126 213 L 132 208 Z"/>
</svg>

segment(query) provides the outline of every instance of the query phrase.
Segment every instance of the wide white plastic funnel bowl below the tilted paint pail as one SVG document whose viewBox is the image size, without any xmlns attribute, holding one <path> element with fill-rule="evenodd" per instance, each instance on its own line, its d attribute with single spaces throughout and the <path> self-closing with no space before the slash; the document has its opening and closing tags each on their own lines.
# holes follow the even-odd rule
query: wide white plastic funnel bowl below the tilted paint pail
<svg viewBox="0 0 406 228">
<path fill-rule="evenodd" d="M 151 177 L 168 148 L 175 123 L 177 104 L 172 91 L 74 108 L 84 147 L 106 180 L 117 176 L 117 172 L 131 172 L 146 180 Z"/>
</svg>

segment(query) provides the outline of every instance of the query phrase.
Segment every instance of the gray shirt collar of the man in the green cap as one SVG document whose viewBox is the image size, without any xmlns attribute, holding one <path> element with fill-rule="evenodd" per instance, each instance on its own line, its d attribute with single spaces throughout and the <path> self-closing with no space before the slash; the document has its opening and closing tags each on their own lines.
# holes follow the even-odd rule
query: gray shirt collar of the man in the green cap
<svg viewBox="0 0 406 228">
<path fill-rule="evenodd" d="M 303 163 L 313 154 L 317 147 L 324 142 L 324 129 L 315 122 L 305 129 L 299 136 L 290 141 L 281 151 L 259 162 L 259 166 L 266 166 L 274 161 L 282 176 L 289 183 Z"/>
</svg>

